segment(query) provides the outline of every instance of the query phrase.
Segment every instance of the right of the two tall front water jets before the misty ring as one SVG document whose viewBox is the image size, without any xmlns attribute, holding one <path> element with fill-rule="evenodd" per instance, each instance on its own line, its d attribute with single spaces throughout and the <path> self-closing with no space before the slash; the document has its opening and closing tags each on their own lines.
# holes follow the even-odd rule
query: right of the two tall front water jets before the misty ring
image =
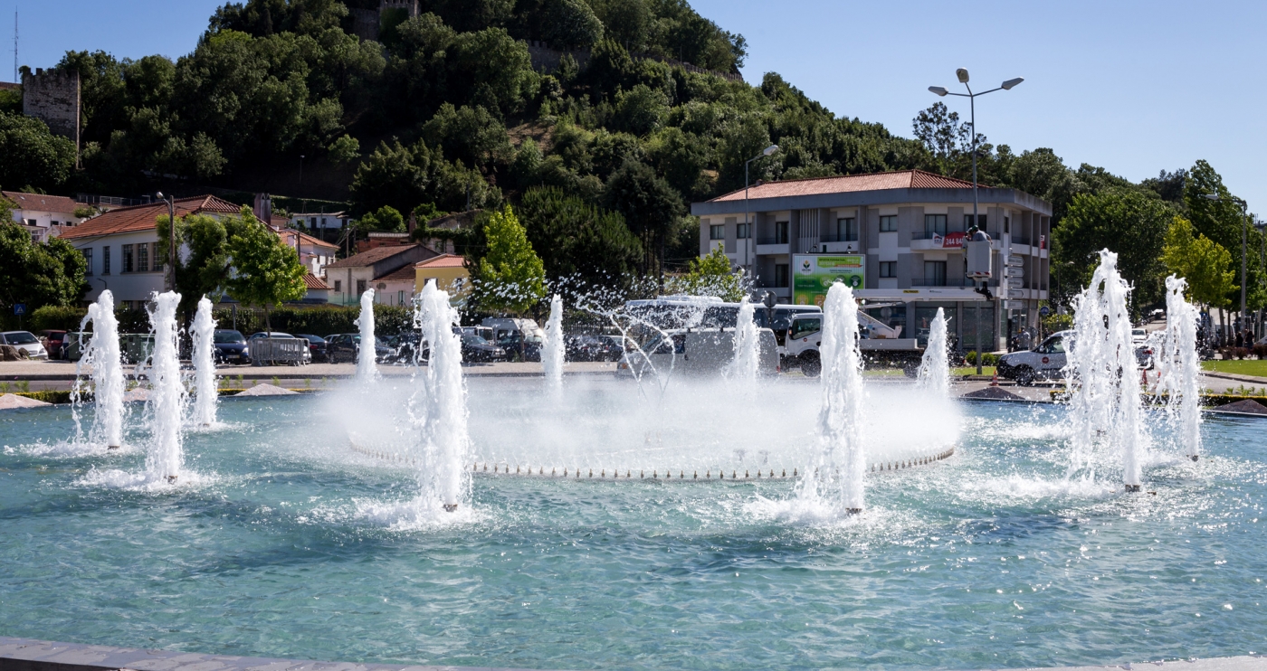
<svg viewBox="0 0 1267 671">
<path fill-rule="evenodd" d="M 853 514 L 863 509 L 863 357 L 858 349 L 858 304 L 843 282 L 831 285 L 822 306 L 822 406 L 820 455 L 806 470 L 798 496 Z"/>
</svg>

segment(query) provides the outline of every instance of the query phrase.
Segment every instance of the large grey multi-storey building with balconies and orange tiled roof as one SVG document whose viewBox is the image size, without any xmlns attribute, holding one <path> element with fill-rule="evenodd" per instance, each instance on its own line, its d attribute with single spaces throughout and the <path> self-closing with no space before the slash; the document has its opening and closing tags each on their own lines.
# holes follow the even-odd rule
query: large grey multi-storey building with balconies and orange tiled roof
<svg viewBox="0 0 1267 671">
<path fill-rule="evenodd" d="M 924 341 L 941 308 L 962 349 L 974 347 L 978 317 L 982 347 L 1005 349 L 1010 336 L 1036 325 L 1048 299 L 1052 205 L 983 186 L 977 203 L 978 227 L 992 238 L 988 296 L 965 279 L 973 189 L 962 180 L 901 171 L 767 182 L 746 199 L 739 190 L 691 211 L 699 216 L 699 253 L 721 248 L 782 303 L 798 300 L 798 275 L 839 260 L 856 265 L 863 309 L 901 327 L 903 338 Z"/>
</svg>

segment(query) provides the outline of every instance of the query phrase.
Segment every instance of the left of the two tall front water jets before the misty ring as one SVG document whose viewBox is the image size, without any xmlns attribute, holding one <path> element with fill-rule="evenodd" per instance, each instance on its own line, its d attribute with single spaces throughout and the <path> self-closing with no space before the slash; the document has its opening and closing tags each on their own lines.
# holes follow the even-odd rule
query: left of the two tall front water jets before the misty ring
<svg viewBox="0 0 1267 671">
<path fill-rule="evenodd" d="M 449 294 L 436 287 L 435 280 L 418 295 L 414 324 L 422 341 L 431 347 L 431 361 L 423 372 L 426 399 L 419 413 L 422 422 L 421 500 L 426 508 L 441 504 L 445 510 L 457 510 L 470 477 L 464 468 L 470 451 L 466 432 L 466 385 L 462 381 L 462 342 L 454 333 L 457 311 L 449 303 Z"/>
</svg>

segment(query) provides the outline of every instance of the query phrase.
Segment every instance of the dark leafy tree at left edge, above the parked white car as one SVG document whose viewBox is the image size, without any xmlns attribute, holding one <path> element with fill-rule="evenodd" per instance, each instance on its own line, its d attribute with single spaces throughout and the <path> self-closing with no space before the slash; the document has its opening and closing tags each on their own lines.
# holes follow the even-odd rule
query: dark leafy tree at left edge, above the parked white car
<svg viewBox="0 0 1267 671">
<path fill-rule="evenodd" d="M 0 199 L 0 315 L 8 320 L 16 303 L 27 304 L 27 311 L 77 305 L 89 289 L 84 254 L 61 238 L 34 242 L 13 220 L 11 208 Z"/>
</svg>

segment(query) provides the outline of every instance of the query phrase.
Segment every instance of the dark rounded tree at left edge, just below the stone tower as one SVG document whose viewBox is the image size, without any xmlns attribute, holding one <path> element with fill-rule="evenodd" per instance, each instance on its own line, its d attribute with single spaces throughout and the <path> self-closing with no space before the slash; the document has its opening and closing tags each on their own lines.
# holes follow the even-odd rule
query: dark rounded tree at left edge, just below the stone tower
<svg viewBox="0 0 1267 671">
<path fill-rule="evenodd" d="M 75 144 L 34 116 L 0 111 L 0 185 L 57 189 L 75 167 Z M 11 219 L 11 216 L 10 216 Z"/>
</svg>

